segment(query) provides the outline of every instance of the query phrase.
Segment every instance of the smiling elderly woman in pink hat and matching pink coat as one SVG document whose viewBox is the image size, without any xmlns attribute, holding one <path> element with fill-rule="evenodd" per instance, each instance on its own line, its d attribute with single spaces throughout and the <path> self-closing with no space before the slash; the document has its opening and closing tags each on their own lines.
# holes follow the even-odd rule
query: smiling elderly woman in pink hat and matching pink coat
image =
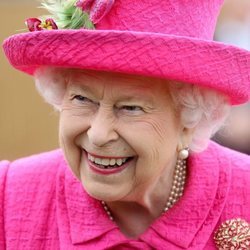
<svg viewBox="0 0 250 250">
<path fill-rule="evenodd" d="M 1 249 L 250 249 L 250 158 L 209 141 L 249 100 L 221 4 L 49 0 L 5 41 L 61 150 L 1 162 Z"/>
</svg>

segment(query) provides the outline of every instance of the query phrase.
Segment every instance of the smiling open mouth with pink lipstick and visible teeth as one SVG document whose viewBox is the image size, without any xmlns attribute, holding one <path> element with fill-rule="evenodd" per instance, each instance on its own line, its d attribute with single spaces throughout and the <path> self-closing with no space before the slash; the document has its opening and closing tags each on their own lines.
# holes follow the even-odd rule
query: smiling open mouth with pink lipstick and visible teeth
<svg viewBox="0 0 250 250">
<path fill-rule="evenodd" d="M 100 169 L 115 169 L 123 167 L 126 163 L 131 161 L 134 157 L 123 158 L 101 158 L 87 153 L 88 160 Z"/>
</svg>

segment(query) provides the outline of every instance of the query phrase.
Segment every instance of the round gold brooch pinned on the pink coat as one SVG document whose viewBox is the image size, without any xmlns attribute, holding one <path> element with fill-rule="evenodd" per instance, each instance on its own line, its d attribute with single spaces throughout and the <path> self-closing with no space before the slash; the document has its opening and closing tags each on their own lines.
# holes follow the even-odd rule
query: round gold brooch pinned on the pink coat
<svg viewBox="0 0 250 250">
<path fill-rule="evenodd" d="M 250 224 L 240 218 L 227 220 L 215 232 L 214 240 L 219 250 L 250 250 Z"/>
</svg>

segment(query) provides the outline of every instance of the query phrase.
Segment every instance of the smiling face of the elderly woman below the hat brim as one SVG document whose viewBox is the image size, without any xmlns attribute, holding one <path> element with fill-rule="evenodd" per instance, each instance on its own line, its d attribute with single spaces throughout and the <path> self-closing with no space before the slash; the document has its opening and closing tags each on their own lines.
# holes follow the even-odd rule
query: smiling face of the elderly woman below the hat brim
<svg viewBox="0 0 250 250">
<path fill-rule="evenodd" d="M 74 72 L 60 115 L 60 143 L 86 191 L 136 199 L 173 169 L 183 129 L 166 83 Z"/>
</svg>

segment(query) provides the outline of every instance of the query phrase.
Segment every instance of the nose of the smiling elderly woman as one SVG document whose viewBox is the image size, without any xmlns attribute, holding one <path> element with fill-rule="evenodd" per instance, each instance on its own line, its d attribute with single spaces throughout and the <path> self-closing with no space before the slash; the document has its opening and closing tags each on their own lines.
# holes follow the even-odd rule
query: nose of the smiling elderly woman
<svg viewBox="0 0 250 250">
<path fill-rule="evenodd" d="M 89 141 L 98 147 L 117 140 L 119 136 L 115 131 L 115 117 L 99 108 L 90 122 L 87 135 Z"/>
</svg>

